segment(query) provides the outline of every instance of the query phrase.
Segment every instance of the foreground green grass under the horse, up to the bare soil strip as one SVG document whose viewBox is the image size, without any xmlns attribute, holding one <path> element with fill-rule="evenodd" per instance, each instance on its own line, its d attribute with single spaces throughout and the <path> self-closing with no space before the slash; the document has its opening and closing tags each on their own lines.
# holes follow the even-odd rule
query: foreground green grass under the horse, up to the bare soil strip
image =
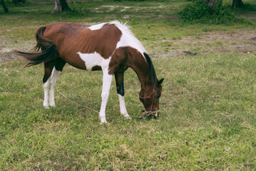
<svg viewBox="0 0 256 171">
<path fill-rule="evenodd" d="M 165 78 L 159 120 L 126 120 L 111 86 L 108 125 L 56 93 L 43 108 L 42 66 L 1 63 L 0 166 L 6 170 L 252 170 L 255 163 L 255 58 L 207 53 L 154 60 Z M 93 74 L 93 78 L 91 77 Z M 101 72 L 67 67 L 57 88 L 99 110 Z M 143 108 L 139 83 L 126 73 L 130 115 Z M 186 143 L 187 141 L 188 143 Z"/>
</svg>

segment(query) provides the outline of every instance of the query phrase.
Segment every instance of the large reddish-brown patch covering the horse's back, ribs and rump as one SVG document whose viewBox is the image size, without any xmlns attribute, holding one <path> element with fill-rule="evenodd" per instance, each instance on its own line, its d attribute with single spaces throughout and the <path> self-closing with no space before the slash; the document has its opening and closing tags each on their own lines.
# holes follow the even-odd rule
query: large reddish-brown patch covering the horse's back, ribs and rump
<svg viewBox="0 0 256 171">
<path fill-rule="evenodd" d="M 121 35 L 122 32 L 113 24 L 91 31 L 81 24 L 58 23 L 47 26 L 43 33 L 45 38 L 56 44 L 58 54 L 64 61 L 81 69 L 86 69 L 86 66 L 78 52 L 97 52 L 107 59 L 116 50 Z"/>
</svg>

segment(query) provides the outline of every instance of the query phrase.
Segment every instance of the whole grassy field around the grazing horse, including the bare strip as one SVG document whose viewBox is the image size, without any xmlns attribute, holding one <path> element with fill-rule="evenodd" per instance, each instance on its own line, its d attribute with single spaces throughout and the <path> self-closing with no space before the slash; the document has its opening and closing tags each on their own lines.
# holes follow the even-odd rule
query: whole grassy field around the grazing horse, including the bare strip
<svg viewBox="0 0 256 171">
<path fill-rule="evenodd" d="M 255 9 L 255 1 L 244 1 Z M 183 24 L 176 12 L 189 1 L 71 1 L 73 13 L 51 14 L 52 1 L 9 6 L 0 15 L 0 170 L 255 170 L 255 11 L 237 10 L 250 24 Z M 230 3 L 230 1 L 225 1 Z M 158 120 L 126 120 L 115 81 L 106 109 L 75 105 L 57 91 L 43 108 L 43 65 L 28 51 L 43 24 L 128 21 L 165 78 Z M 71 100 L 100 110 L 102 73 L 66 66 L 56 83 Z M 143 109 L 135 73 L 125 74 L 126 107 Z"/>
</svg>

